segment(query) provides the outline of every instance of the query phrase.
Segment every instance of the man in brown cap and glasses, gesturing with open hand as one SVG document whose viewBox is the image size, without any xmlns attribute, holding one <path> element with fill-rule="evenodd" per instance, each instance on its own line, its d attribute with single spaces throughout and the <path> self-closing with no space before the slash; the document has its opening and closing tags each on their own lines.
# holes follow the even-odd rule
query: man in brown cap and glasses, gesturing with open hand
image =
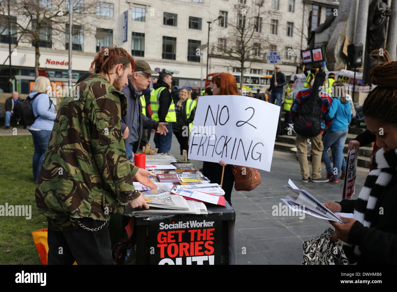
<svg viewBox="0 0 397 292">
<path fill-rule="evenodd" d="M 127 114 L 121 117 L 121 122 L 127 125 L 129 129 L 129 135 L 124 140 L 125 152 L 129 160 L 132 159 L 133 153 L 135 153 L 141 144 L 143 129 L 154 129 L 161 135 L 166 135 L 168 130 L 166 124 L 159 123 L 153 119 L 146 117 L 142 112 L 142 93 L 143 89 L 146 89 L 149 83 L 152 81 L 151 74 L 155 74 L 147 62 L 143 60 L 135 60 L 135 72 L 132 73 L 128 79 L 128 85 L 124 86 L 121 90 L 122 93 L 127 97 Z"/>
</svg>

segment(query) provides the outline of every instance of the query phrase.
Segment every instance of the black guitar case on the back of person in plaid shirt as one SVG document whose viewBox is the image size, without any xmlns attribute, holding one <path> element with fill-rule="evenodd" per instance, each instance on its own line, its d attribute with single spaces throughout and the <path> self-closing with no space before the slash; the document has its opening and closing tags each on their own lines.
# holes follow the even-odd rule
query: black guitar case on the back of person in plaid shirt
<svg viewBox="0 0 397 292">
<path fill-rule="evenodd" d="M 321 131 L 321 107 L 318 104 L 318 94 L 321 86 L 324 84 L 325 73 L 318 72 L 314 79 L 312 93 L 309 100 L 305 102 L 298 111 L 297 118 L 294 122 L 294 130 L 299 135 L 305 137 L 315 137 Z"/>
</svg>

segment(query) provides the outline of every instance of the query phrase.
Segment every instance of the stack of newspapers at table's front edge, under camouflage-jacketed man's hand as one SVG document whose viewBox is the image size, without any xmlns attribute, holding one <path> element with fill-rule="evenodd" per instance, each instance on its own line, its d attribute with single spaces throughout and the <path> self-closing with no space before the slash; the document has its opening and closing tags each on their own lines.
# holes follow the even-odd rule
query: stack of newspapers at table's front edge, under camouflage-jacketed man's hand
<svg viewBox="0 0 397 292">
<path fill-rule="evenodd" d="M 135 217 L 172 215 L 172 214 L 204 214 L 208 211 L 204 203 L 187 200 L 179 195 L 173 195 L 170 192 L 161 193 L 160 195 L 147 195 L 146 203 L 150 209 L 131 209 L 126 205 L 125 213 Z"/>
</svg>

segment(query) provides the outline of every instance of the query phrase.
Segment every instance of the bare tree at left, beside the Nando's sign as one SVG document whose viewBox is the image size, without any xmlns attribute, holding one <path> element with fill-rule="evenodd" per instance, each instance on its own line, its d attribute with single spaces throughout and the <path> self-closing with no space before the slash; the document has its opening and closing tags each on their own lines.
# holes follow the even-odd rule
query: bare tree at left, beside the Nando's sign
<svg viewBox="0 0 397 292">
<path fill-rule="evenodd" d="M 7 2 L 11 2 L 8 17 Z M 93 33 L 97 0 L 73 0 L 73 35 Z M 93 17 L 95 16 L 95 17 Z M 39 76 L 40 47 L 68 42 L 69 0 L 3 0 L 0 2 L 0 32 L 11 28 L 11 37 L 35 48 L 35 74 Z M 18 44 L 16 43 L 16 46 Z"/>
</svg>

